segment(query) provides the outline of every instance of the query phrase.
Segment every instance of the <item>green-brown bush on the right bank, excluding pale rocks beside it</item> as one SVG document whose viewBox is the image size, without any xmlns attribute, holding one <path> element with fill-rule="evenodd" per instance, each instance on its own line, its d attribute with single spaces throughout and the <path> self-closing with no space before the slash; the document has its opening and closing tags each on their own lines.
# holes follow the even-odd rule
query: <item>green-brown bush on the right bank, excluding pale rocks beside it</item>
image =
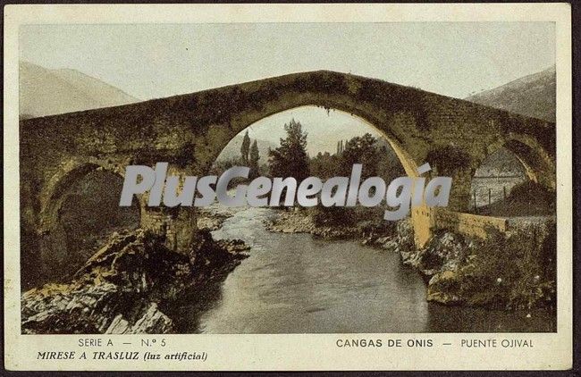
<svg viewBox="0 0 581 377">
<path fill-rule="evenodd" d="M 459 268 L 459 295 L 470 305 L 508 308 L 555 303 L 554 223 L 530 225 L 509 237 L 490 230 Z"/>
</svg>

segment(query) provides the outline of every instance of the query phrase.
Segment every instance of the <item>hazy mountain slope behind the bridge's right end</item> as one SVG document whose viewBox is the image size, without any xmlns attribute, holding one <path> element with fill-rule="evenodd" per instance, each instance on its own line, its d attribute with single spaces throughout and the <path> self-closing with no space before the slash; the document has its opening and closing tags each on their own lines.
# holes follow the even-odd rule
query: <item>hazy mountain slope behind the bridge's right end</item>
<svg viewBox="0 0 581 377">
<path fill-rule="evenodd" d="M 465 98 L 512 113 L 555 121 L 555 66 Z"/>
</svg>

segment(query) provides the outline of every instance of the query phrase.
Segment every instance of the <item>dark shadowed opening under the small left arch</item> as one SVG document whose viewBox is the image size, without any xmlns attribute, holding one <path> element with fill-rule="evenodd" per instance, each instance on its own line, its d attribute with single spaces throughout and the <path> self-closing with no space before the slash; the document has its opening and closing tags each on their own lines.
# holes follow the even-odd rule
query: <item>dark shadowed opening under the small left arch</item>
<svg viewBox="0 0 581 377">
<path fill-rule="evenodd" d="M 54 281 L 76 272 L 94 252 L 88 246 L 100 246 L 112 227 L 139 226 L 139 200 L 131 207 L 117 207 L 122 181 L 122 172 L 98 163 L 71 163 L 55 174 L 41 206 L 40 281 Z"/>
</svg>

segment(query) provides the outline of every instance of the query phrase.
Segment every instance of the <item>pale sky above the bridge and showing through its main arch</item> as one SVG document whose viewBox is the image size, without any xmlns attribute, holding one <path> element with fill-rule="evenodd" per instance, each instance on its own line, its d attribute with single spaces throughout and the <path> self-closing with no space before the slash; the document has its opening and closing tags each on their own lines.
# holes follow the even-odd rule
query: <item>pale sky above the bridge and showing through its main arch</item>
<svg viewBox="0 0 581 377">
<path fill-rule="evenodd" d="M 551 66 L 554 39 L 552 22 L 97 24 L 23 26 L 19 46 L 21 60 L 76 69 L 142 100 L 316 70 L 463 98 Z M 317 142 L 334 151 L 331 126 L 341 138 L 361 134 L 355 125 L 371 130 L 311 107 L 266 118 L 250 136 L 278 141 L 292 117 L 311 134 L 310 153 Z"/>
</svg>

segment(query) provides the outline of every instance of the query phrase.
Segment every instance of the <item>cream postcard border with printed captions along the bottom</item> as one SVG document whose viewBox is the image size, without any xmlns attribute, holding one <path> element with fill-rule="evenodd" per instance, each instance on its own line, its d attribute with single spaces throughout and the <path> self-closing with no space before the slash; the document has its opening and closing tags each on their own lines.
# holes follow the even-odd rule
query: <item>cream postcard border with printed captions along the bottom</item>
<svg viewBox="0 0 581 377">
<path fill-rule="evenodd" d="M 572 365 L 572 80 L 570 5 L 148 4 L 4 6 L 4 360 L 9 370 L 446 370 L 568 369 Z M 21 335 L 18 29 L 46 23 L 553 21 L 556 23 L 558 331 L 556 333 Z M 532 339 L 535 348 L 442 346 L 459 339 Z M 206 352 L 204 363 L 36 360 L 76 350 L 80 338 L 166 339 L 164 352 Z M 434 339 L 433 348 L 337 348 L 336 339 Z M 157 347 L 157 346 L 156 346 Z M 146 351 L 147 349 L 141 348 Z M 95 350 L 95 349 L 91 349 Z M 160 349 L 157 349 L 160 350 Z"/>
</svg>

